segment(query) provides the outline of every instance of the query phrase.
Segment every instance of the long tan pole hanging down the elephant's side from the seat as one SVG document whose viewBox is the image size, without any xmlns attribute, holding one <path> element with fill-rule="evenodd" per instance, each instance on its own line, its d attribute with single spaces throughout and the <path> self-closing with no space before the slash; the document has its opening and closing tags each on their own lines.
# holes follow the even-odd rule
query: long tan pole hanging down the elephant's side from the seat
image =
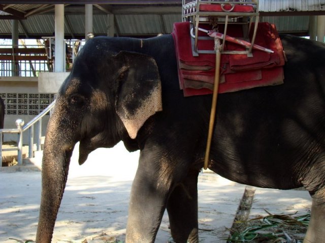
<svg viewBox="0 0 325 243">
<path fill-rule="evenodd" d="M 221 61 L 220 49 L 221 49 L 220 40 L 215 38 L 215 51 L 216 51 L 215 74 L 214 74 L 214 86 L 213 86 L 208 140 L 207 140 L 207 147 L 206 147 L 206 151 L 205 151 L 204 166 L 203 166 L 203 169 L 205 169 L 205 170 L 208 169 L 208 164 L 209 164 L 211 140 L 212 140 L 212 135 L 213 135 L 215 113 L 216 113 L 216 109 L 217 109 L 217 98 L 218 98 L 219 80 L 220 80 L 220 61 Z"/>
</svg>

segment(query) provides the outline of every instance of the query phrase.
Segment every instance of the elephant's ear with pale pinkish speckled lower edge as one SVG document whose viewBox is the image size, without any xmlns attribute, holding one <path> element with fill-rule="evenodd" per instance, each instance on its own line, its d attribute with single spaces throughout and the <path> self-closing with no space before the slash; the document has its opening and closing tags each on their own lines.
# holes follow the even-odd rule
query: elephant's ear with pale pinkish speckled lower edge
<svg viewBox="0 0 325 243">
<path fill-rule="evenodd" d="M 128 135 L 134 139 L 145 121 L 162 110 L 158 66 L 152 57 L 140 53 L 122 51 L 116 58 L 123 67 L 115 108 Z"/>
</svg>

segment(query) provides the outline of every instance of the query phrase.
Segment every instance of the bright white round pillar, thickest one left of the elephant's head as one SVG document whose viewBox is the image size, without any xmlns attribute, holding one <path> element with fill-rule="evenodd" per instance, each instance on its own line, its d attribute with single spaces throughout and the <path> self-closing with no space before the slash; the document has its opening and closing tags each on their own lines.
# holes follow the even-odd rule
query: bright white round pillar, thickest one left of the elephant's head
<svg viewBox="0 0 325 243">
<path fill-rule="evenodd" d="M 54 50 L 54 71 L 64 72 L 66 63 L 64 44 L 64 5 L 55 5 L 55 50 Z"/>
</svg>

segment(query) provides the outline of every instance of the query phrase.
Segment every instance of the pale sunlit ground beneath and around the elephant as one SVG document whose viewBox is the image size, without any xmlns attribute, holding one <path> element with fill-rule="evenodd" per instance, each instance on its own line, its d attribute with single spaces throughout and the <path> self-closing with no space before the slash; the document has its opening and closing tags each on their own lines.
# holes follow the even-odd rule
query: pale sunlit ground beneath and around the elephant
<svg viewBox="0 0 325 243">
<path fill-rule="evenodd" d="M 123 144 L 97 149 L 84 165 L 72 157 L 66 191 L 58 213 L 52 242 L 106 242 L 109 237 L 124 241 L 129 192 L 138 165 L 139 152 L 128 153 Z M 225 242 L 245 185 L 216 175 L 199 177 L 200 242 Z M 9 238 L 35 239 L 41 194 L 40 171 L 0 173 L 0 242 Z M 252 216 L 292 210 L 306 211 L 306 191 L 257 189 Z M 170 237 L 165 213 L 155 242 Z M 100 236 L 106 234 L 106 236 Z M 108 241 L 109 242 L 109 241 Z"/>
</svg>

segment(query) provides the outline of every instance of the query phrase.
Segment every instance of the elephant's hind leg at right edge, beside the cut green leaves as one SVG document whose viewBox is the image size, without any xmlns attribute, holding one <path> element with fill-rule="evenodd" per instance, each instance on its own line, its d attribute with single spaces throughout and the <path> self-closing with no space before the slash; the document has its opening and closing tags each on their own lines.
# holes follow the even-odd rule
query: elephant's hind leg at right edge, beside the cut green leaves
<svg viewBox="0 0 325 243">
<path fill-rule="evenodd" d="M 311 216 L 304 243 L 324 242 L 325 239 L 325 189 L 313 196 Z"/>
</svg>

